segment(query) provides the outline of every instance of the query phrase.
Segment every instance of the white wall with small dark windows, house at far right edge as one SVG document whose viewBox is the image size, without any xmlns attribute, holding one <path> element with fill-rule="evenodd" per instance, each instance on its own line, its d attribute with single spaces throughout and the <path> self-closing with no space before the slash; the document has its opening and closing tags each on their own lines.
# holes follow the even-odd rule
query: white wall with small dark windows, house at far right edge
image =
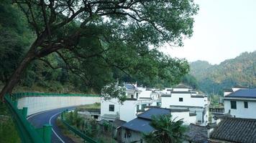
<svg viewBox="0 0 256 143">
<path fill-rule="evenodd" d="M 235 101 L 235 100 L 232 100 Z M 256 101 L 247 101 L 248 102 L 248 108 L 244 108 L 244 102 L 247 100 L 237 100 L 237 109 L 231 109 L 230 100 L 224 99 L 224 109 L 225 113 L 229 112 L 232 116 L 236 116 L 239 118 L 250 118 L 250 119 L 256 119 Z"/>
</svg>

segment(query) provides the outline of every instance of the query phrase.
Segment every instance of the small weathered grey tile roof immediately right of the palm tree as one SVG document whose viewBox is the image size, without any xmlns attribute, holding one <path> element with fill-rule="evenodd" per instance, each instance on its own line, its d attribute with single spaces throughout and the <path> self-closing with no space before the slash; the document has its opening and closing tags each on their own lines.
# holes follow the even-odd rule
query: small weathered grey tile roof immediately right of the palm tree
<svg viewBox="0 0 256 143">
<path fill-rule="evenodd" d="M 185 137 L 190 142 L 205 143 L 208 140 L 207 127 L 189 124 Z"/>
</svg>

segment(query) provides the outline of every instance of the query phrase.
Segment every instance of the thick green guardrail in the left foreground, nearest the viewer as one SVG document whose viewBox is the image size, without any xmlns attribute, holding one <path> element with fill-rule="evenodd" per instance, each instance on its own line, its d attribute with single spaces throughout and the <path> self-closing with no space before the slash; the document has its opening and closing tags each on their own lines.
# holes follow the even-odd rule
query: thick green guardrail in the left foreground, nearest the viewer
<svg viewBox="0 0 256 143">
<path fill-rule="evenodd" d="M 17 101 L 14 96 L 6 94 L 4 96 L 7 107 L 9 108 L 14 124 L 19 132 L 19 137 L 24 143 L 50 143 L 52 136 L 52 126 L 45 124 L 42 128 L 35 129 L 27 121 L 27 107 L 17 108 Z"/>
</svg>

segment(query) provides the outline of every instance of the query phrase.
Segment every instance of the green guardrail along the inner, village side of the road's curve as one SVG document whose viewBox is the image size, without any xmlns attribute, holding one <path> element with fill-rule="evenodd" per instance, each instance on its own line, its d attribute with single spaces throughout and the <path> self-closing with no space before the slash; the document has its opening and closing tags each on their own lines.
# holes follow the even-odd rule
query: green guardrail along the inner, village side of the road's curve
<svg viewBox="0 0 256 143">
<path fill-rule="evenodd" d="M 86 134 L 83 134 L 82 132 L 80 132 L 78 129 L 76 129 L 75 127 L 72 127 L 68 124 L 68 122 L 65 122 L 65 119 L 63 118 L 63 114 L 65 114 L 65 112 L 67 112 L 68 110 L 62 112 L 60 114 L 60 119 L 63 122 L 63 124 L 65 124 L 66 127 L 68 127 L 68 129 L 70 131 L 72 131 L 73 133 L 75 133 L 76 135 L 78 135 L 79 137 L 81 137 L 84 142 L 88 142 L 88 143 L 98 143 L 95 140 L 93 140 L 91 137 L 86 136 Z"/>
</svg>

